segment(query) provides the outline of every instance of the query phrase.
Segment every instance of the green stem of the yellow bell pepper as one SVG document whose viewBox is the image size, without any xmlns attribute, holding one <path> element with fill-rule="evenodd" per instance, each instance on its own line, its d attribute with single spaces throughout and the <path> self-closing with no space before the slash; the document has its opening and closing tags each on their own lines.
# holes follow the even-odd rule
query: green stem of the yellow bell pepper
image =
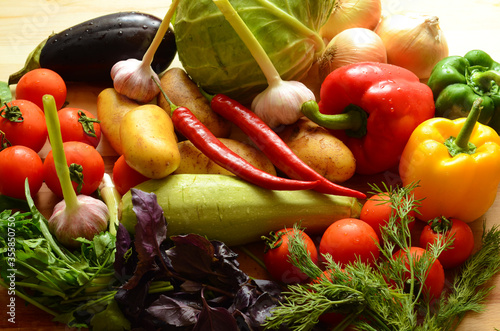
<svg viewBox="0 0 500 331">
<path fill-rule="evenodd" d="M 477 98 L 472 104 L 472 109 L 467 116 L 467 119 L 460 129 L 457 137 L 450 137 L 445 141 L 446 147 L 448 147 L 448 152 L 453 157 L 460 153 L 474 154 L 476 151 L 476 146 L 469 142 L 470 136 L 472 135 L 472 131 L 476 125 L 476 122 L 481 114 L 481 103 L 483 102 L 482 98 Z"/>
</svg>

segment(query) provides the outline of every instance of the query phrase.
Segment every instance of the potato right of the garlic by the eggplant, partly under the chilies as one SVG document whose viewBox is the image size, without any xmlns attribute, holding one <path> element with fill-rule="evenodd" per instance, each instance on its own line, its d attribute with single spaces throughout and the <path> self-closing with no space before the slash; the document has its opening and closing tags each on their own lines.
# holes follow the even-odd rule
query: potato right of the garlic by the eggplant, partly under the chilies
<svg viewBox="0 0 500 331">
<path fill-rule="evenodd" d="M 201 94 L 196 83 L 183 69 L 167 70 L 160 79 L 160 85 L 174 105 L 191 110 L 216 137 L 227 138 L 229 136 L 231 123 L 210 108 L 210 102 Z M 170 114 L 170 104 L 162 93 L 158 96 L 158 105 Z"/>
</svg>

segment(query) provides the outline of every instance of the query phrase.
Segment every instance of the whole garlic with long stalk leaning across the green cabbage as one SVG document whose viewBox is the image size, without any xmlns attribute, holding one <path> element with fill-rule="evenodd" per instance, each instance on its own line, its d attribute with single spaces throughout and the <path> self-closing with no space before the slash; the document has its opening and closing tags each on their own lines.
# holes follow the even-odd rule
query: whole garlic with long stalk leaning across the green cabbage
<svg viewBox="0 0 500 331">
<path fill-rule="evenodd" d="M 295 123 L 302 116 L 301 105 L 315 100 L 314 93 L 301 82 L 283 81 L 262 45 L 229 1 L 213 2 L 245 43 L 267 79 L 269 86 L 254 98 L 252 110 L 270 127 Z"/>
</svg>

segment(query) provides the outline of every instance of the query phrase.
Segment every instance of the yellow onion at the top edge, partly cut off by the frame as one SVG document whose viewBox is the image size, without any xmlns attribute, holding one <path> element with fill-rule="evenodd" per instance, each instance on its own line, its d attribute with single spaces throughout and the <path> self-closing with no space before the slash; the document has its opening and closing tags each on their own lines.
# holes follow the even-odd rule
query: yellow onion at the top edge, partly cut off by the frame
<svg viewBox="0 0 500 331">
<path fill-rule="evenodd" d="M 346 29 L 373 30 L 380 21 L 381 15 L 380 0 L 337 0 L 328 21 L 321 27 L 319 34 L 329 41 Z"/>
</svg>

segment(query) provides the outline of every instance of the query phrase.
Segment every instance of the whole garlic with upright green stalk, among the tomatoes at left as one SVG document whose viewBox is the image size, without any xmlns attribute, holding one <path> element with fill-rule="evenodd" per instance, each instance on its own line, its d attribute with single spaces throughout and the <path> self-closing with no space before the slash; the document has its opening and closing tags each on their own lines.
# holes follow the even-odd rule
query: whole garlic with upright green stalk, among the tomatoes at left
<svg viewBox="0 0 500 331">
<path fill-rule="evenodd" d="M 94 235 L 107 229 L 109 210 L 101 200 L 76 195 L 70 179 L 56 103 L 52 95 L 43 96 L 43 107 L 54 165 L 64 196 L 64 200 L 55 205 L 49 218 L 49 230 L 64 246 L 78 248 L 81 242 L 76 240 L 77 238 L 92 240 Z"/>
</svg>

